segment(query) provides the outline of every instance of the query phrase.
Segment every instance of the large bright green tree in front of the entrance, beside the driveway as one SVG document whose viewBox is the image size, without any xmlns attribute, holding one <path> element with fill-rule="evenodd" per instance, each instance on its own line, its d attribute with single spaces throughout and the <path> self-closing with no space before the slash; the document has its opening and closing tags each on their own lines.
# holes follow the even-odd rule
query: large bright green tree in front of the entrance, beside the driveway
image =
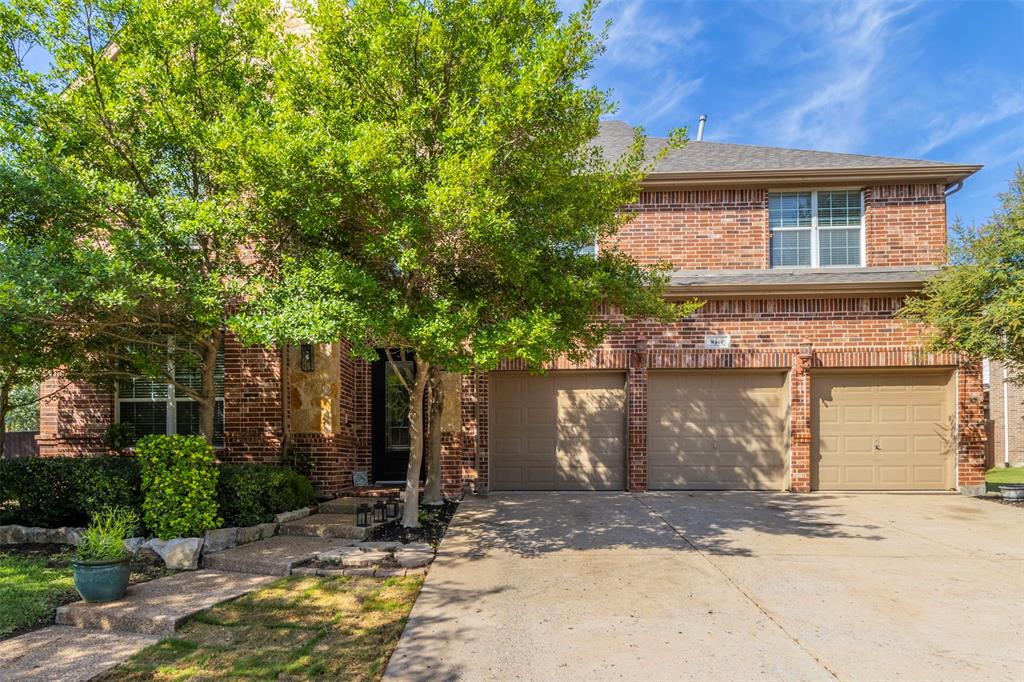
<svg viewBox="0 0 1024 682">
<path fill-rule="evenodd" d="M 415 357 L 400 379 L 408 526 L 435 368 L 513 358 L 541 370 L 589 357 L 629 316 L 681 312 L 664 300 L 660 270 L 603 248 L 650 160 L 640 134 L 617 160 L 592 144 L 613 110 L 584 85 L 601 50 L 594 8 L 319 0 L 300 10 L 308 33 L 279 71 L 274 124 L 250 157 L 284 230 L 281 267 L 236 325 L 253 340 L 345 337 L 368 357 L 378 347 Z"/>
</svg>

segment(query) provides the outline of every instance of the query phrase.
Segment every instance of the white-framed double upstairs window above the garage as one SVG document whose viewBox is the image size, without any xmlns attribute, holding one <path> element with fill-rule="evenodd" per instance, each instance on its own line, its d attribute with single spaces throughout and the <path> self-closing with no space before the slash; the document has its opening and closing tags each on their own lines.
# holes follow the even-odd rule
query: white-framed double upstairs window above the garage
<svg viewBox="0 0 1024 682">
<path fill-rule="evenodd" d="M 858 189 L 768 195 L 772 267 L 863 265 L 864 204 Z"/>
</svg>

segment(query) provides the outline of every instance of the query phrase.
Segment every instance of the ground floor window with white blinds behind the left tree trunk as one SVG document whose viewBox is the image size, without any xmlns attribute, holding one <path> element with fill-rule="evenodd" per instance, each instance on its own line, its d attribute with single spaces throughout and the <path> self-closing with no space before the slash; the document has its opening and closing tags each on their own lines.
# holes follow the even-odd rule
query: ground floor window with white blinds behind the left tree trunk
<svg viewBox="0 0 1024 682">
<path fill-rule="evenodd" d="M 202 380 L 195 368 L 174 367 L 174 380 L 199 390 Z M 216 407 L 213 415 L 213 444 L 224 444 L 224 351 L 217 353 L 214 370 Z M 174 384 L 145 377 L 121 379 L 117 384 L 116 420 L 131 426 L 134 438 L 146 435 L 198 435 L 199 403 Z"/>
</svg>

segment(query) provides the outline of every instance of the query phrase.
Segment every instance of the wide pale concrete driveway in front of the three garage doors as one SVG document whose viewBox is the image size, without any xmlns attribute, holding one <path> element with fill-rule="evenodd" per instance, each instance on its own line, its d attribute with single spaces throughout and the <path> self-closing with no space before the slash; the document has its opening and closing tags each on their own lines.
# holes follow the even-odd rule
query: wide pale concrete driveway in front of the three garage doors
<svg viewBox="0 0 1024 682">
<path fill-rule="evenodd" d="M 1024 509 L 956 495 L 467 499 L 394 680 L 1022 680 Z"/>
</svg>

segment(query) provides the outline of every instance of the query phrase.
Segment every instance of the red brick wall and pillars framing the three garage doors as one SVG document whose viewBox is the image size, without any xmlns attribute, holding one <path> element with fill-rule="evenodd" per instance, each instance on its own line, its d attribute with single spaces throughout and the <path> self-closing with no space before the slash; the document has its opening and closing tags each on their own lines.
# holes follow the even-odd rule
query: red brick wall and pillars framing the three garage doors
<svg viewBox="0 0 1024 682">
<path fill-rule="evenodd" d="M 629 489 L 646 489 L 647 373 L 649 369 L 779 369 L 790 373 L 791 488 L 811 487 L 813 372 L 825 368 L 947 368 L 955 372 L 958 443 L 957 484 L 984 477 L 984 394 L 981 370 L 953 353 L 921 348 L 921 329 L 893 319 L 900 297 L 828 299 L 725 299 L 709 301 L 672 325 L 632 322 L 609 337 L 589 361 L 560 359 L 548 369 L 622 369 L 627 372 L 627 467 Z M 605 316 L 614 318 L 606 311 Z M 703 349 L 706 333 L 731 335 L 728 350 Z M 802 342 L 810 354 L 801 355 Z M 526 369 L 507 361 L 499 371 Z M 479 379 L 478 379 L 479 381 Z M 479 411 L 486 414 L 487 382 L 478 385 Z M 481 472 L 487 459 L 487 424 L 479 425 Z M 480 475 L 480 481 L 487 479 Z"/>
</svg>

